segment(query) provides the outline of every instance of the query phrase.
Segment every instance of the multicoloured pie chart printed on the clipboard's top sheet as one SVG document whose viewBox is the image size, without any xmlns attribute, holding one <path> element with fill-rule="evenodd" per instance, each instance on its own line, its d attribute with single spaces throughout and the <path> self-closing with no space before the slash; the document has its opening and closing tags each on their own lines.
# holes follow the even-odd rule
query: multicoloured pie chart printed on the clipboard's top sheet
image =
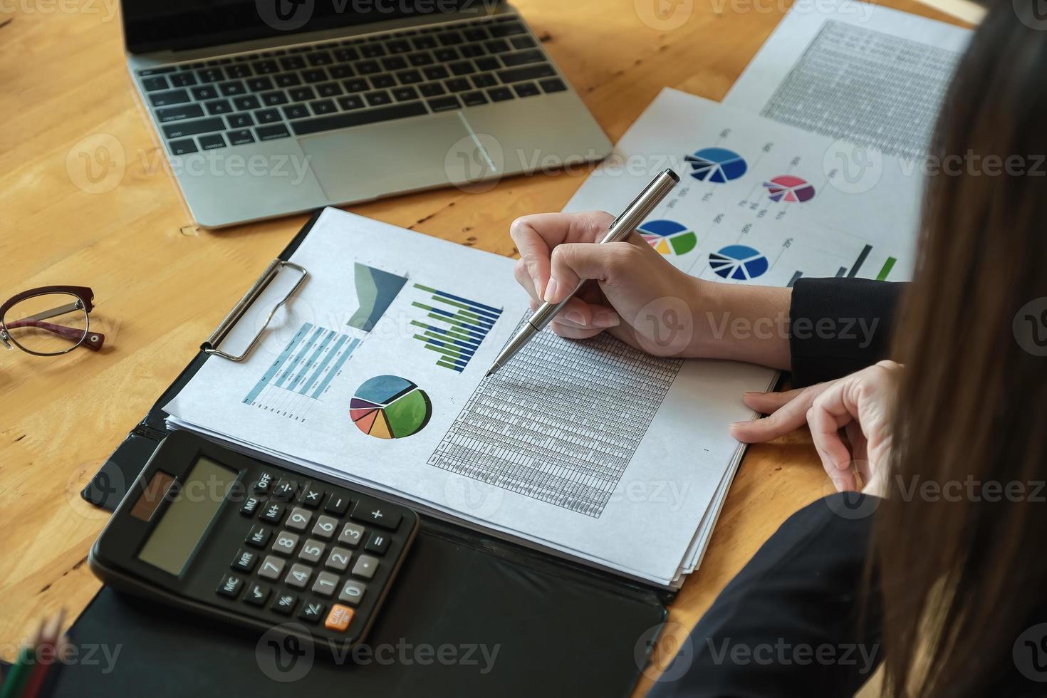
<svg viewBox="0 0 1047 698">
<path fill-rule="evenodd" d="M 376 438 L 403 438 L 418 433 L 432 416 L 429 396 L 399 376 L 369 378 L 349 403 L 356 428 Z"/>
</svg>

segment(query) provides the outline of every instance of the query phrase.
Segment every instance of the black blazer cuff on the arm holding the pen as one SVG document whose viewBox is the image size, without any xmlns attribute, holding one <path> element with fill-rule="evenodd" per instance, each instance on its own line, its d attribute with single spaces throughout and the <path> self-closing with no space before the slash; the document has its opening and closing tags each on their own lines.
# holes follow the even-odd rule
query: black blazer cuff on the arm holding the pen
<svg viewBox="0 0 1047 698">
<path fill-rule="evenodd" d="M 865 278 L 799 278 L 789 309 L 793 385 L 840 378 L 890 358 L 906 284 Z"/>
</svg>

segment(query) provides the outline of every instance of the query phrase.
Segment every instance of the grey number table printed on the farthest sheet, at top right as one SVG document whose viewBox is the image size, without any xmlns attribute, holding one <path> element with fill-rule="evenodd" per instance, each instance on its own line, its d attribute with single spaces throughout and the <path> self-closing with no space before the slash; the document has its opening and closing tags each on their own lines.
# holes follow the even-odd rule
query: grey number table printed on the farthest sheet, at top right
<svg viewBox="0 0 1047 698">
<path fill-rule="evenodd" d="M 827 20 L 761 115 L 919 159 L 959 53 Z"/>
</svg>

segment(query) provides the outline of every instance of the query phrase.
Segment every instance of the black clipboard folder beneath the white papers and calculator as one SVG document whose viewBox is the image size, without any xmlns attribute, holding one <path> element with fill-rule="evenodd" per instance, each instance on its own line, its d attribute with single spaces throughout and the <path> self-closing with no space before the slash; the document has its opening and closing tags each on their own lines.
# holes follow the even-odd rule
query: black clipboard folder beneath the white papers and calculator
<svg viewBox="0 0 1047 698">
<path fill-rule="evenodd" d="M 320 212 L 277 260 L 293 254 Z M 161 406 L 204 361 L 214 360 L 207 346 L 95 473 L 81 493 L 84 499 L 109 511 L 119 503 L 168 433 Z M 631 692 L 673 592 L 429 516 L 421 519 L 366 643 L 375 652 L 370 659 L 307 658 L 300 648 L 273 637 L 216 627 L 103 588 L 73 625 L 71 638 L 118 646 L 122 660 L 109 671 L 102 662 L 68 667 L 53 695 L 266 696 L 291 690 L 354 698 L 550 693 L 602 698 Z M 414 654 L 405 646 L 415 648 Z M 475 649 L 469 659 L 495 654 L 494 659 L 466 661 L 463 648 L 470 646 Z M 378 660 L 379 647 L 401 649 L 389 665 Z M 452 660 L 436 658 L 441 651 Z M 428 661 L 419 652 L 431 652 Z M 303 662 L 309 665 L 305 672 Z"/>
</svg>

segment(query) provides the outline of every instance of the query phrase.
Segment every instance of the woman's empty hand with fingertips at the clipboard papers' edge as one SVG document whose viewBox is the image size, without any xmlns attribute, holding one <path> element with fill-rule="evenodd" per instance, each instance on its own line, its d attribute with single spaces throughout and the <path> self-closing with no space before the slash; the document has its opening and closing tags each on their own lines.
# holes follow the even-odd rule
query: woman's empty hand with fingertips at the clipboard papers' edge
<svg viewBox="0 0 1047 698">
<path fill-rule="evenodd" d="M 787 392 L 749 392 L 745 405 L 770 416 L 731 425 L 745 444 L 771 441 L 806 422 L 825 472 L 837 490 L 884 496 L 891 458 L 892 426 L 903 366 L 881 361 L 846 378 Z M 840 435 L 843 429 L 847 442 Z"/>
</svg>

